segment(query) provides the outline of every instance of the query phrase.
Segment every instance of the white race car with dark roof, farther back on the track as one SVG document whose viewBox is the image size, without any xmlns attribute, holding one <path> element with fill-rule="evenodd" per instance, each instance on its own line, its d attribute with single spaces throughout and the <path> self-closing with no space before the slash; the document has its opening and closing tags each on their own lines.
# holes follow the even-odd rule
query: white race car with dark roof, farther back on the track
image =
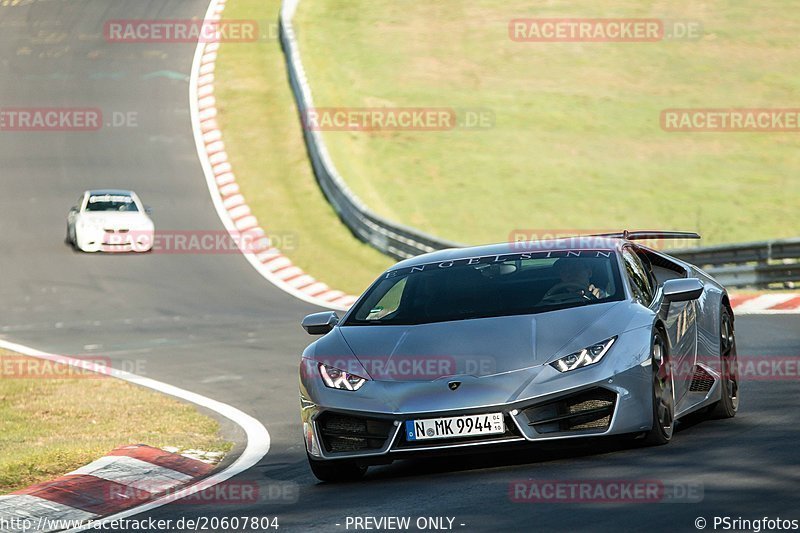
<svg viewBox="0 0 800 533">
<path fill-rule="evenodd" d="M 133 191 L 84 192 L 67 215 L 67 242 L 83 252 L 149 252 L 155 226 Z"/>
</svg>

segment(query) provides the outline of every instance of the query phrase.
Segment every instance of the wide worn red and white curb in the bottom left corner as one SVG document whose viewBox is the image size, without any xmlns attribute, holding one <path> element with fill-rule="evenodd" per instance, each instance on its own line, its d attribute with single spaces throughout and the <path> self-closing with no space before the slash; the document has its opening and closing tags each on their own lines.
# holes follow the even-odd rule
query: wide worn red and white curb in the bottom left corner
<svg viewBox="0 0 800 533">
<path fill-rule="evenodd" d="M 58 531 L 154 500 L 214 466 L 142 444 L 122 446 L 74 472 L 0 496 L 3 531 Z M 16 526 L 15 526 L 16 525 Z"/>
</svg>

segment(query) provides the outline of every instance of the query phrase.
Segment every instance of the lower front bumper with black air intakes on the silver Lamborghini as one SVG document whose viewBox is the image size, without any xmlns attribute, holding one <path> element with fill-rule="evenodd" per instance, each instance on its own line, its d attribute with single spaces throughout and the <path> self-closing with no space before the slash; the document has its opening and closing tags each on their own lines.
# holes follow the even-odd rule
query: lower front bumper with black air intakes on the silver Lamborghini
<svg viewBox="0 0 800 533">
<path fill-rule="evenodd" d="M 612 371 L 611 368 L 606 369 Z M 616 369 L 619 370 L 619 369 Z M 502 404 L 457 409 L 385 412 L 351 409 L 314 401 L 318 392 L 349 399 L 345 391 L 310 392 L 301 386 L 302 419 L 306 449 L 318 460 L 358 459 L 385 463 L 419 455 L 451 453 L 456 449 L 479 451 L 497 446 L 516 446 L 555 439 L 620 435 L 647 431 L 652 424 L 652 380 L 649 359 L 624 371 L 607 374 L 599 369 L 581 370 L 590 382 L 559 388 L 552 380 L 541 394 Z M 566 376 L 566 375 L 564 375 Z M 559 376 L 563 377 L 563 376 Z M 533 379 L 535 381 L 535 379 Z M 546 389 L 551 390 L 546 390 Z M 435 400 L 434 400 L 435 402 Z M 502 412 L 506 431 L 481 437 L 409 441 L 405 422 L 470 414 Z"/>
</svg>

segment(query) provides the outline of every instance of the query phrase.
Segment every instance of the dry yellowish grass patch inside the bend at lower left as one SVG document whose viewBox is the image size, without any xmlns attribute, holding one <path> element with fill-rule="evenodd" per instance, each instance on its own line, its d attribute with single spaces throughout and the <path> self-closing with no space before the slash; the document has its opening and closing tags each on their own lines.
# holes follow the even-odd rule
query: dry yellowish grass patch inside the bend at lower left
<svg viewBox="0 0 800 533">
<path fill-rule="evenodd" d="M 0 362 L 4 358 L 9 368 L 28 360 L 0 350 Z M 18 374 L 5 367 L 0 371 L 0 494 L 61 476 L 127 444 L 205 451 L 231 447 L 215 420 L 162 394 L 94 375 L 12 375 Z"/>
</svg>

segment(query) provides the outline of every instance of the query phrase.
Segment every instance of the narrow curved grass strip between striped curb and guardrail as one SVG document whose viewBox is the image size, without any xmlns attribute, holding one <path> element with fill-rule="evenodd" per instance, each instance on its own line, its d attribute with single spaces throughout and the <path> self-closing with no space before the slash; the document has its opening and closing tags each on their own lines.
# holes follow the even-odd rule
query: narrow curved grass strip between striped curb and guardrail
<svg viewBox="0 0 800 533">
<path fill-rule="evenodd" d="M 278 0 L 238 0 L 224 17 L 272 23 L 279 6 Z M 353 237 L 322 195 L 278 41 L 223 44 L 215 93 L 237 182 L 262 227 L 279 247 L 288 244 L 282 251 L 307 273 L 360 293 L 393 261 Z"/>
</svg>

